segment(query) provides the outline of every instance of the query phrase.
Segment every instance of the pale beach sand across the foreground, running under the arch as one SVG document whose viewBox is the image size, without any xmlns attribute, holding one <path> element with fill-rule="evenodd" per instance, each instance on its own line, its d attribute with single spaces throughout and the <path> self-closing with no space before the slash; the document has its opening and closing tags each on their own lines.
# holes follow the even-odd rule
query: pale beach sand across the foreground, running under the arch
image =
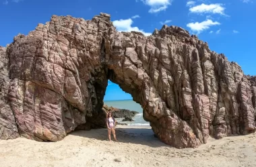
<svg viewBox="0 0 256 167">
<path fill-rule="evenodd" d="M 94 129 L 56 143 L 0 141 L 0 166 L 256 166 L 256 134 L 210 139 L 183 150 L 162 144 L 150 127 L 119 125 L 117 138 L 108 142 L 106 129 Z"/>
</svg>

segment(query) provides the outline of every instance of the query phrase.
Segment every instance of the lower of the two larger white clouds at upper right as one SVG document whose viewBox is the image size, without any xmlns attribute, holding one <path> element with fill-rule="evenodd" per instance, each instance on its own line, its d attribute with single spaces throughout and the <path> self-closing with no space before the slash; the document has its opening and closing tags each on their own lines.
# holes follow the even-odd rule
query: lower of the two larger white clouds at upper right
<svg viewBox="0 0 256 167">
<path fill-rule="evenodd" d="M 212 19 L 207 19 L 205 21 L 202 21 L 201 23 L 188 23 L 187 27 L 189 27 L 193 32 L 197 32 L 197 34 L 200 34 L 201 32 L 209 29 L 213 25 L 220 25 L 220 23 L 218 21 L 212 21 Z"/>
</svg>

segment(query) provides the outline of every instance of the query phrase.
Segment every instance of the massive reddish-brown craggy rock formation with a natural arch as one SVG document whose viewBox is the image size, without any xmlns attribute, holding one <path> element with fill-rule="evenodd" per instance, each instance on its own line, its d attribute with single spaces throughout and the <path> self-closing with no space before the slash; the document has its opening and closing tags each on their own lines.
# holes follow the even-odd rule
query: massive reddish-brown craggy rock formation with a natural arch
<svg viewBox="0 0 256 167">
<path fill-rule="evenodd" d="M 108 79 L 171 146 L 255 131 L 255 78 L 181 27 L 146 37 L 117 32 L 105 13 L 92 21 L 53 15 L 0 55 L 1 139 L 62 140 L 102 112 Z"/>
</svg>

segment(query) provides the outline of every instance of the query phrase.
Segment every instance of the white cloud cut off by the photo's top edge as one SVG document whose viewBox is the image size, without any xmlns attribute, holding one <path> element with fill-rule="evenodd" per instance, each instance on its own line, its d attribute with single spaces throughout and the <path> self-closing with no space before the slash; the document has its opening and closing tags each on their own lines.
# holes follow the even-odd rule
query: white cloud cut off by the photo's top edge
<svg viewBox="0 0 256 167">
<path fill-rule="evenodd" d="M 164 11 L 171 5 L 172 0 L 141 0 L 146 5 L 150 6 L 150 13 L 158 13 L 160 11 Z"/>
</svg>

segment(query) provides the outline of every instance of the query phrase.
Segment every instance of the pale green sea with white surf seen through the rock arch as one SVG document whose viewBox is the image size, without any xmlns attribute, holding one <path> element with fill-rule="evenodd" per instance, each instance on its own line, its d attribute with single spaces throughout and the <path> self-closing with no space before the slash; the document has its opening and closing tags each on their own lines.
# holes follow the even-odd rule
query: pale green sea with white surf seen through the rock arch
<svg viewBox="0 0 256 167">
<path fill-rule="evenodd" d="M 120 100 L 120 101 L 104 101 L 105 105 L 108 105 L 109 107 L 115 107 L 118 109 L 129 109 L 131 111 L 137 111 L 138 114 L 133 117 L 134 121 L 128 122 L 128 121 L 122 121 L 123 119 L 117 119 L 119 123 L 127 123 L 127 125 L 131 126 L 148 126 L 150 125 L 149 122 L 145 121 L 143 119 L 143 109 L 139 103 L 136 103 L 133 100 Z"/>
</svg>

